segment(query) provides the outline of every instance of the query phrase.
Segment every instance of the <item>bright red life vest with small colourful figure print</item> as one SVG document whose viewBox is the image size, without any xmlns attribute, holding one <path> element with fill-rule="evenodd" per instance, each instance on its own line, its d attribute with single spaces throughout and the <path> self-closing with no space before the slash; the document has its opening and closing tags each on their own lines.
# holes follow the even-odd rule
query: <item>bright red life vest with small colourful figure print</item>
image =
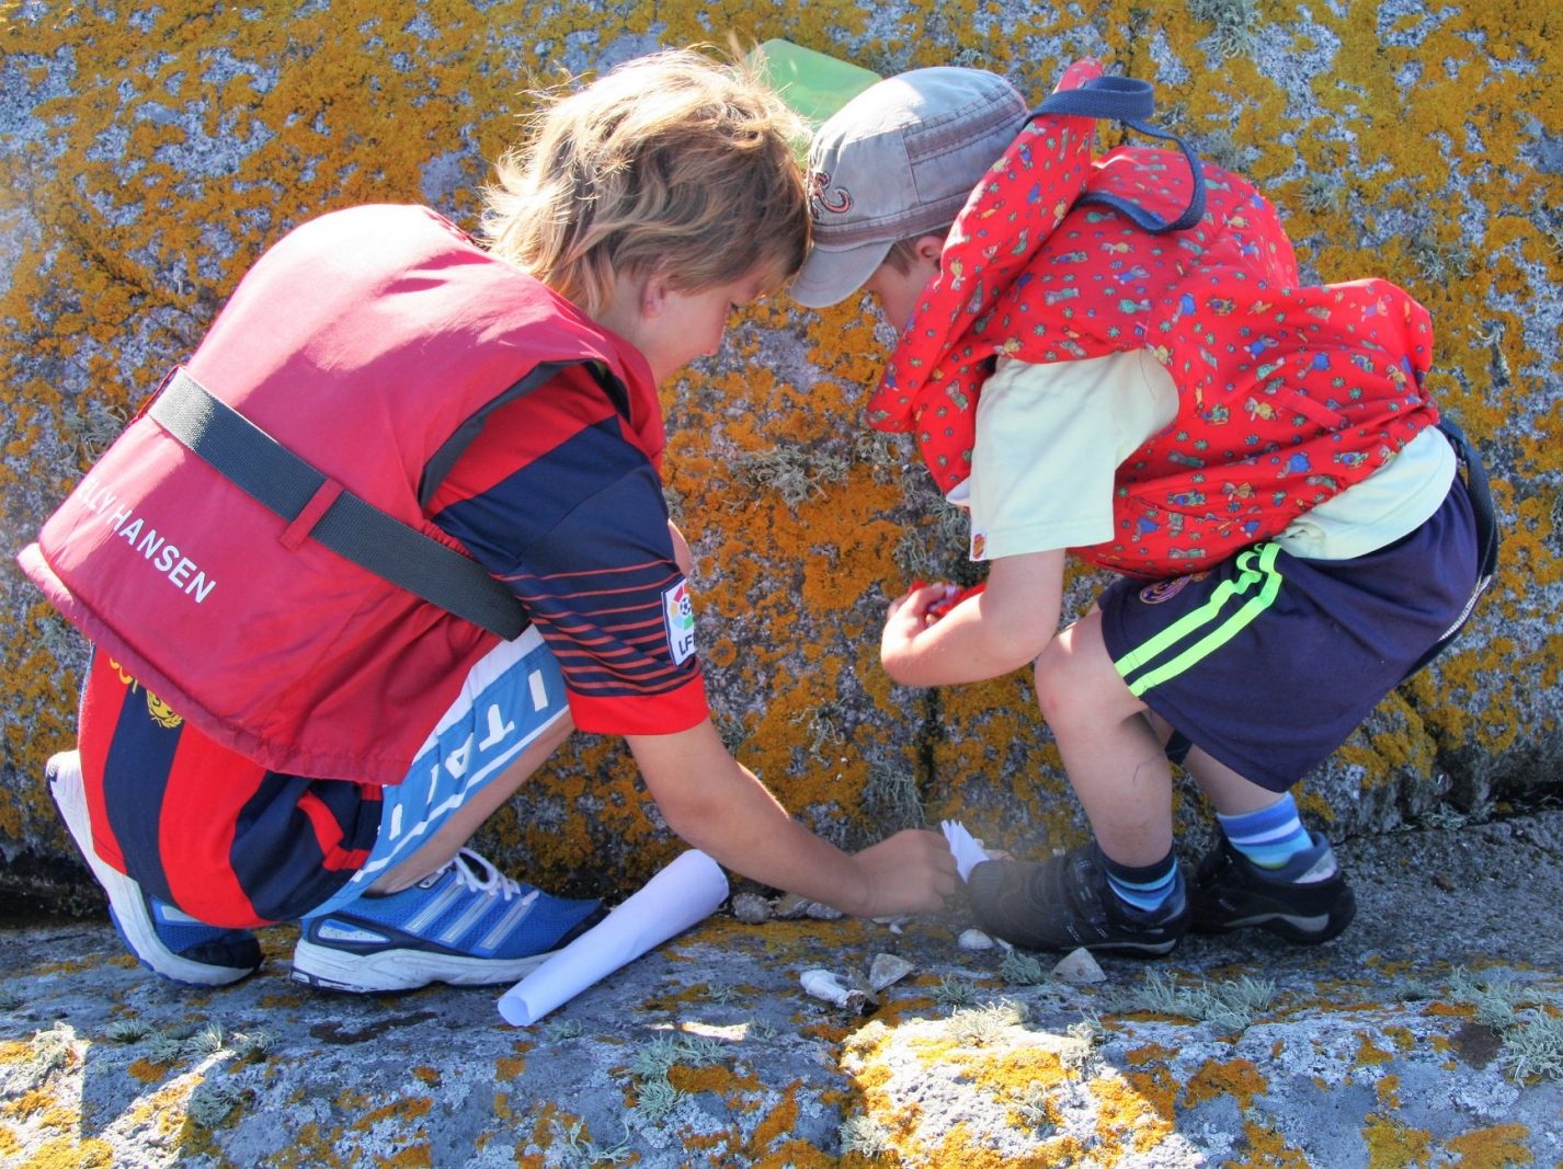
<svg viewBox="0 0 1563 1169">
<path fill-rule="evenodd" d="M 1100 75 L 1066 70 L 1058 89 Z M 1383 280 L 1302 286 L 1274 206 L 1204 166 L 1193 228 L 1152 234 L 1080 203 L 1110 192 L 1164 220 L 1189 202 L 1183 155 L 1119 147 L 1094 120 L 1046 114 L 975 188 L 941 270 L 869 402 L 913 431 L 942 491 L 971 474 L 975 408 L 996 356 L 1077 361 L 1150 350 L 1179 411 L 1118 469 L 1114 536 L 1072 552 L 1128 575 L 1221 561 L 1364 480 L 1438 420 L 1422 392 L 1432 325 Z"/>
</svg>

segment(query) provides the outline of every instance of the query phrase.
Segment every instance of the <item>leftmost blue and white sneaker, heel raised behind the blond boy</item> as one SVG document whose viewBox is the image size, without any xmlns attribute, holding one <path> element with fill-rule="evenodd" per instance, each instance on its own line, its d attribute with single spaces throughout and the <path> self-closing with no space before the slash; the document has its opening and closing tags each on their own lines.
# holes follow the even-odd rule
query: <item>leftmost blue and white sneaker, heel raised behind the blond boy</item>
<svg viewBox="0 0 1563 1169">
<path fill-rule="evenodd" d="M 227 986 L 261 967 L 261 946 L 249 930 L 206 925 L 161 902 L 97 855 L 92 820 L 81 783 L 81 753 L 63 752 L 48 761 L 48 794 L 108 894 L 108 916 L 130 952 L 153 974 L 194 986 Z"/>
</svg>

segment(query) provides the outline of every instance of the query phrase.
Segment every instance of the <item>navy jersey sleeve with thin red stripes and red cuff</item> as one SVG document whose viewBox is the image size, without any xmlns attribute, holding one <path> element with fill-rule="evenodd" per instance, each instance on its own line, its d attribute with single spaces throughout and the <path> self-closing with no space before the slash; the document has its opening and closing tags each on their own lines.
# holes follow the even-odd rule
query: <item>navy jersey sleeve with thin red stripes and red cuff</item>
<svg viewBox="0 0 1563 1169">
<path fill-rule="evenodd" d="M 494 411 L 430 502 L 520 599 L 586 731 L 666 735 L 706 716 L 699 658 L 675 628 L 685 580 L 658 452 L 644 444 L 575 367 Z"/>
</svg>

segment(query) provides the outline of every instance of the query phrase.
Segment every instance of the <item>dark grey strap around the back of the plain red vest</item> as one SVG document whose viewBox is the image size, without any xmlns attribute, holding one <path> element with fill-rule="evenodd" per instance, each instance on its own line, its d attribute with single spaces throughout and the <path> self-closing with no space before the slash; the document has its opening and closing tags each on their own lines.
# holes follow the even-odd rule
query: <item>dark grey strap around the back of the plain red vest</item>
<svg viewBox="0 0 1563 1169">
<path fill-rule="evenodd" d="M 244 494 L 292 524 L 330 492 L 320 470 L 283 447 L 183 369 L 147 411 Z M 527 627 L 516 595 L 470 556 L 339 491 L 308 536 L 377 577 L 510 641 Z"/>
</svg>

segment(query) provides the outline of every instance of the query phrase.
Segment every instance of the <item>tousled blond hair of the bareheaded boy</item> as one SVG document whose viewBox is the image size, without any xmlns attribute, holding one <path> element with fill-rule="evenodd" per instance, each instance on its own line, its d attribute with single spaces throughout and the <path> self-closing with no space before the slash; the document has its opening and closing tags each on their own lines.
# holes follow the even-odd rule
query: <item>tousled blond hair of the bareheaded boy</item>
<svg viewBox="0 0 1563 1169">
<path fill-rule="evenodd" d="M 497 164 L 483 231 L 588 316 L 621 273 L 691 292 L 803 264 L 803 125 L 749 66 L 653 53 L 549 98 L 533 130 Z"/>
</svg>

